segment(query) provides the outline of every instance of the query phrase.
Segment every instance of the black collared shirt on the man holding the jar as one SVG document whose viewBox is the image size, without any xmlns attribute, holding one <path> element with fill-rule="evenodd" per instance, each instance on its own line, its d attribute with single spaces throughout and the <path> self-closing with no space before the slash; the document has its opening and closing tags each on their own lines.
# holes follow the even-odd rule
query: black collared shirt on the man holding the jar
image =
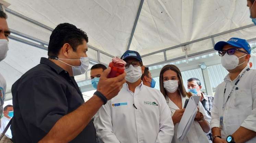
<svg viewBox="0 0 256 143">
<path fill-rule="evenodd" d="M 12 96 L 14 117 L 11 131 L 12 139 L 17 143 L 38 142 L 62 116 L 84 104 L 74 77 L 47 58 L 41 58 L 40 64 L 28 70 L 12 85 Z M 95 142 L 92 121 L 71 141 Z"/>
</svg>

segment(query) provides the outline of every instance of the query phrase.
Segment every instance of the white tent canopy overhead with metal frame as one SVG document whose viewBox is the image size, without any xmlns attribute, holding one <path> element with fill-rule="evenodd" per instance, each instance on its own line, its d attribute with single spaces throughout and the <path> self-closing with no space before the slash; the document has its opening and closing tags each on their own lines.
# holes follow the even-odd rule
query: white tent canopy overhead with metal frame
<svg viewBox="0 0 256 143">
<path fill-rule="evenodd" d="M 63 22 L 88 34 L 91 65 L 108 64 L 130 49 L 142 55 L 144 65 L 153 66 L 214 52 L 216 42 L 230 37 L 256 37 L 245 0 L 4 1 L 11 4 L 5 10 L 13 33 L 8 57 L 0 62 L 7 92 L 40 57 L 47 57 L 51 31 Z M 87 79 L 86 74 L 77 81 Z"/>
</svg>

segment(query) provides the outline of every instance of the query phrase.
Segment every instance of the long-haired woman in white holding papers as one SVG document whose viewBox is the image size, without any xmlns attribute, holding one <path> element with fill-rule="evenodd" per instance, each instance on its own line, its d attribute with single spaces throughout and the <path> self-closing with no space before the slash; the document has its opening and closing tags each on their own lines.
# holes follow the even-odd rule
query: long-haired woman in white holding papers
<svg viewBox="0 0 256 143">
<path fill-rule="evenodd" d="M 203 105 L 199 102 L 198 111 L 194 122 L 191 125 L 183 142 L 177 138 L 177 129 L 181 117 L 185 111 L 183 109 L 186 99 L 192 96 L 187 93 L 182 82 L 180 69 L 175 65 L 166 65 L 160 72 L 160 91 L 166 98 L 167 104 L 171 110 L 172 121 L 174 124 L 174 136 L 172 143 L 208 143 L 210 142 L 206 135 L 210 133 L 211 117 L 206 113 Z"/>
</svg>

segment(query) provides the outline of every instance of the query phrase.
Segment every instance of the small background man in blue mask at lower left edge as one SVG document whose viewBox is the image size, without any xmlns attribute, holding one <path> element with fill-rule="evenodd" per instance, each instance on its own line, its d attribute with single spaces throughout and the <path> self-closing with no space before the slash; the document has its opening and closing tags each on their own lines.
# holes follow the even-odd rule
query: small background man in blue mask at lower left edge
<svg viewBox="0 0 256 143">
<path fill-rule="evenodd" d="M 0 128 L 0 133 L 2 134 L 3 130 L 5 129 L 5 127 L 8 125 L 8 123 L 11 121 L 11 118 L 13 117 L 13 106 L 12 105 L 7 105 L 4 107 L 3 109 L 3 117 L 1 118 L 1 128 Z M 12 139 L 12 132 L 10 127 L 8 128 L 8 130 L 6 131 L 6 133 L 4 134 L 3 139 L 0 141 L 0 143 L 3 142 L 3 140 L 6 142 L 6 140 L 10 140 Z"/>
</svg>

